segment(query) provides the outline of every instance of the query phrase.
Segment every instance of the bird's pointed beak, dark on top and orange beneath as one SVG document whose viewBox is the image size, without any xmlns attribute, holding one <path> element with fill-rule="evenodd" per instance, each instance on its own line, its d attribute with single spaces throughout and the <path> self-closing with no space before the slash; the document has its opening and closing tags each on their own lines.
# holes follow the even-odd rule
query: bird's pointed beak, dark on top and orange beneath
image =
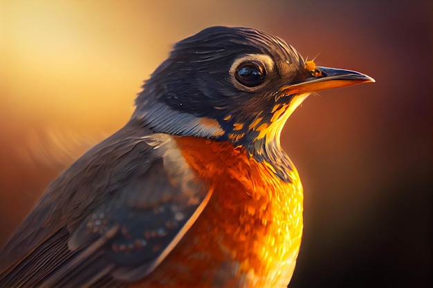
<svg viewBox="0 0 433 288">
<path fill-rule="evenodd" d="M 365 74 L 337 68 L 317 67 L 317 76 L 311 76 L 299 83 L 284 86 L 286 95 L 308 93 L 318 90 L 340 88 L 354 84 L 375 82 Z"/>
</svg>

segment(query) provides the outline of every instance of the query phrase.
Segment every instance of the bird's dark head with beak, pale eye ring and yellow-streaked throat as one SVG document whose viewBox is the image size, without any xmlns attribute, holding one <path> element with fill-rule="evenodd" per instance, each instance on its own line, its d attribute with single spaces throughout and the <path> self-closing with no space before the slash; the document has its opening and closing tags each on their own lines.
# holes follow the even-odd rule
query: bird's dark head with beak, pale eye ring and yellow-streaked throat
<svg viewBox="0 0 433 288">
<path fill-rule="evenodd" d="M 156 132 L 227 140 L 260 155 L 313 91 L 374 81 L 316 67 L 278 37 L 211 27 L 179 41 L 136 99 L 132 119 Z"/>
</svg>

